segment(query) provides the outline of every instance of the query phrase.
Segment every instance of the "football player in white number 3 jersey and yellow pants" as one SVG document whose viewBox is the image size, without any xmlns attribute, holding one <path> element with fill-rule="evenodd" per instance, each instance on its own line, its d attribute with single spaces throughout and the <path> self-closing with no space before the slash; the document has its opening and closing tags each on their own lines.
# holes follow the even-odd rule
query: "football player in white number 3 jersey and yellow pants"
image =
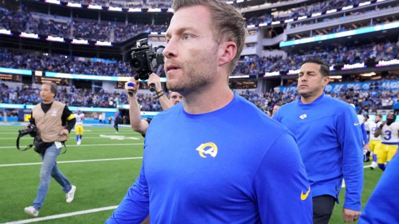
<svg viewBox="0 0 399 224">
<path fill-rule="evenodd" d="M 374 133 L 374 137 L 381 136 L 381 148 L 377 152 L 377 163 L 383 171 L 397 150 L 399 122 L 395 122 L 395 120 L 396 115 L 389 113 L 386 116 L 386 122 L 382 122 Z"/>
</svg>

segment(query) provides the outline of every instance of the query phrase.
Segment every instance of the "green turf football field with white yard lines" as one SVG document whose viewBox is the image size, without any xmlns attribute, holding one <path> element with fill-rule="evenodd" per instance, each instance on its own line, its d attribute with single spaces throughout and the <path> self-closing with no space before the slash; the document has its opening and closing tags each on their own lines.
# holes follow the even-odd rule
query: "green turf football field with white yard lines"
<svg viewBox="0 0 399 224">
<path fill-rule="evenodd" d="M 33 149 L 24 152 L 17 151 L 15 147 L 17 130 L 22 128 L 22 126 L 0 126 L 0 223 L 33 218 L 25 214 L 23 209 L 30 206 L 36 196 L 41 165 L 3 166 L 4 164 L 41 162 L 41 158 Z M 130 138 L 125 139 L 127 137 Z M 25 146 L 31 142 L 32 138 L 25 136 L 21 140 L 21 145 Z M 141 135 L 134 133 L 130 128 L 119 128 L 119 133 L 115 134 L 111 126 L 85 127 L 82 145 L 76 146 L 74 132 L 71 132 L 70 139 L 67 141 L 67 152 L 58 156 L 59 162 L 109 158 L 130 159 L 59 163 L 61 172 L 77 187 L 74 201 L 66 203 L 64 192 L 52 179 L 46 201 L 38 217 L 117 205 L 138 176 L 142 159 L 131 157 L 143 155 L 142 143 Z M 363 206 L 381 174 L 379 170 L 365 169 Z M 335 206 L 330 223 L 343 223 L 341 211 L 344 193 L 343 190 L 340 195 L 342 203 Z M 103 223 L 112 210 L 45 220 L 40 223 Z"/>
</svg>

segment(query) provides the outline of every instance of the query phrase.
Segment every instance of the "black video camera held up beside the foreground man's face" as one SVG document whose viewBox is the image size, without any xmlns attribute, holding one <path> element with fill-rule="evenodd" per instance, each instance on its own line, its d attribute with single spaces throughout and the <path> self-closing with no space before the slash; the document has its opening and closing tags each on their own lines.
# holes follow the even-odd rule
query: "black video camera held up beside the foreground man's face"
<svg viewBox="0 0 399 224">
<path fill-rule="evenodd" d="M 164 55 L 159 49 L 163 49 L 165 46 L 152 46 L 148 45 L 146 38 L 136 41 L 136 47 L 132 48 L 132 60 L 130 61 L 130 67 L 133 73 L 136 73 L 134 77 L 136 80 L 146 80 L 148 76 L 154 72 L 155 68 L 159 65 L 164 64 Z M 155 91 L 154 84 L 150 85 L 150 91 Z M 129 95 L 133 95 L 133 91 L 128 91 Z"/>
</svg>

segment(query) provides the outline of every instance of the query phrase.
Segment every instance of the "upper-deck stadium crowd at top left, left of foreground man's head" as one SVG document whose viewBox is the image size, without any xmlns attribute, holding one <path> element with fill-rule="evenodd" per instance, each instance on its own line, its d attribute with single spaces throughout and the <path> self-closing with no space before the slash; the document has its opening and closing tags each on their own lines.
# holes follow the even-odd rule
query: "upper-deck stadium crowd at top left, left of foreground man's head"
<svg viewBox="0 0 399 224">
<path fill-rule="evenodd" d="M 59 19 L 57 21 L 63 22 L 56 22 L 55 17 L 38 13 L 33 14 L 24 7 L 22 9 L 22 11 L 16 12 L 0 8 L 0 28 L 69 39 L 83 38 L 111 42 L 122 42 L 143 32 L 161 33 L 167 29 L 167 25 L 125 24 L 82 19 L 70 21 L 70 18 L 66 17 L 57 17 Z"/>
</svg>

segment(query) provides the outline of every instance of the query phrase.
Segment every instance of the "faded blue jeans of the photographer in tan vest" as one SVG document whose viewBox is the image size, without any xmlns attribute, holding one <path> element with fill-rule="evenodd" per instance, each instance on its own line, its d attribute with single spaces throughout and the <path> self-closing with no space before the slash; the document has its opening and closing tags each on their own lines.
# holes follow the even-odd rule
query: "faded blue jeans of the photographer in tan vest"
<svg viewBox="0 0 399 224">
<path fill-rule="evenodd" d="M 49 190 L 50 180 L 53 177 L 62 187 L 62 190 L 67 193 L 71 188 L 69 180 L 58 170 L 57 167 L 57 156 L 60 154 L 61 148 L 51 145 L 46 149 L 46 152 L 42 156 L 43 164 L 40 170 L 40 183 L 37 189 L 37 195 L 34 199 L 32 206 L 39 210 L 46 198 L 47 191 Z"/>
</svg>

